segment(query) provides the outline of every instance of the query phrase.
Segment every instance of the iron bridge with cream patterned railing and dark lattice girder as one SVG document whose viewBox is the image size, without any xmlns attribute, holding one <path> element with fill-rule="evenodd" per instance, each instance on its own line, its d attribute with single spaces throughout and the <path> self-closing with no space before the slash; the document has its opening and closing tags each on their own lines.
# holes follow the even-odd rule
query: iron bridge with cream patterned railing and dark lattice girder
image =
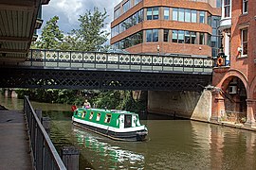
<svg viewBox="0 0 256 170">
<path fill-rule="evenodd" d="M 0 87 L 202 91 L 213 60 L 31 49 L 24 62 L 0 63 Z"/>
</svg>

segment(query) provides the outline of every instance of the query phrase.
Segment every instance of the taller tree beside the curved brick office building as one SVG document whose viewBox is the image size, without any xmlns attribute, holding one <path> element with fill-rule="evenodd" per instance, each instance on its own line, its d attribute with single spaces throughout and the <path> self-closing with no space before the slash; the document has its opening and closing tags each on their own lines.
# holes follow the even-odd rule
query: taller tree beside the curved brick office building
<svg viewBox="0 0 256 170">
<path fill-rule="evenodd" d="M 101 51 L 105 48 L 109 33 L 104 30 L 108 17 L 106 9 L 104 12 L 99 8 L 94 11 L 87 10 L 84 15 L 80 15 L 78 21 L 81 23 L 78 29 L 73 29 L 65 37 L 62 49 L 81 50 L 81 51 Z"/>
</svg>

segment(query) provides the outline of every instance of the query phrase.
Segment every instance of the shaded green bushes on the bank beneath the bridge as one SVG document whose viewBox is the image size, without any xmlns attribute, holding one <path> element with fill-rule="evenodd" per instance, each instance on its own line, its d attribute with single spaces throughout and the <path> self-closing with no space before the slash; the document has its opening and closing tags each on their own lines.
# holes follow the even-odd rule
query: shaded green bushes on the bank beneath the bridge
<svg viewBox="0 0 256 170">
<path fill-rule="evenodd" d="M 65 103 L 81 107 L 88 99 L 92 107 L 143 112 L 147 107 L 147 92 L 16 89 L 18 98 L 24 95 L 30 100 L 46 103 Z"/>
</svg>

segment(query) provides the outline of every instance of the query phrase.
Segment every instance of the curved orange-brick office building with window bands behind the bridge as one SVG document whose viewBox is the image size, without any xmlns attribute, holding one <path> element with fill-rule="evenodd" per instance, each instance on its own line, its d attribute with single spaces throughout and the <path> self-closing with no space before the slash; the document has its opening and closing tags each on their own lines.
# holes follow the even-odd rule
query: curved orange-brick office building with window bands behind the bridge
<svg viewBox="0 0 256 170">
<path fill-rule="evenodd" d="M 221 0 L 123 0 L 114 8 L 111 44 L 142 54 L 216 57 Z"/>
</svg>

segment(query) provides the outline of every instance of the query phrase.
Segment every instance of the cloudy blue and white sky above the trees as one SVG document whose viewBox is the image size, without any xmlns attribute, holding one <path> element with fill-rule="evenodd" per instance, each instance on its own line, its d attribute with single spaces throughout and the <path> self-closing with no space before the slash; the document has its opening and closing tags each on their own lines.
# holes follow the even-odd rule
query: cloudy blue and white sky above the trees
<svg viewBox="0 0 256 170">
<path fill-rule="evenodd" d="M 58 15 L 60 20 L 58 26 L 67 34 L 72 29 L 79 27 L 80 23 L 78 18 L 83 15 L 86 10 L 94 7 L 103 11 L 106 8 L 107 14 L 109 15 L 105 22 L 107 23 L 105 29 L 110 32 L 110 24 L 113 21 L 114 7 L 117 6 L 121 0 L 50 0 L 48 5 L 43 6 L 43 26 L 46 25 L 46 21 L 55 15 Z M 39 30 L 39 34 L 41 33 Z M 110 37 L 109 37 L 110 39 Z"/>
</svg>

